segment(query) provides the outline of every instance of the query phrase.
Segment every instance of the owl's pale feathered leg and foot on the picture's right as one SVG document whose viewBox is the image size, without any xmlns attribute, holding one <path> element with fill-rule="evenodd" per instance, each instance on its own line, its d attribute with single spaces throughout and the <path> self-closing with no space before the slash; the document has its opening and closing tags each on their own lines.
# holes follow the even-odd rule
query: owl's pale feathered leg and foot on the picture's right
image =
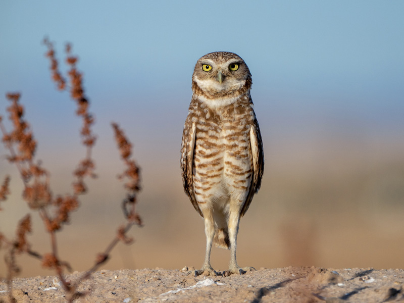
<svg viewBox="0 0 404 303">
<path fill-rule="evenodd" d="M 223 272 L 223 275 L 229 276 L 230 274 L 240 274 L 243 275 L 247 271 L 256 270 L 254 267 L 245 267 L 241 268 L 237 264 L 236 259 L 236 248 L 237 248 L 237 234 L 238 234 L 238 225 L 240 223 L 240 210 L 238 207 L 232 208 L 230 207 L 229 213 L 229 240 L 230 240 L 230 265 L 229 270 Z"/>
</svg>

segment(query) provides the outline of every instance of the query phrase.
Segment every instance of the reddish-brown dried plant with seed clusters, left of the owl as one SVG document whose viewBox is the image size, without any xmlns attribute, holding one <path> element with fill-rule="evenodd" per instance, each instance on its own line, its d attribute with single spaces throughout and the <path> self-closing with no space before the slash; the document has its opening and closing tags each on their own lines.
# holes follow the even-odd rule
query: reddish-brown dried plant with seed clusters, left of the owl
<svg viewBox="0 0 404 303">
<path fill-rule="evenodd" d="M 59 90 L 70 90 L 71 98 L 76 102 L 76 115 L 82 119 L 83 126 L 80 136 L 82 144 L 86 148 L 85 157 L 82 159 L 73 175 L 75 180 L 72 184 L 73 192 L 66 195 L 54 195 L 49 186 L 49 173 L 41 166 L 40 161 L 35 159 L 37 142 L 34 139 L 33 132 L 29 124 L 24 119 L 24 107 L 20 104 L 19 93 L 8 93 L 7 99 L 11 105 L 7 108 L 9 119 L 12 122 L 12 131 L 8 132 L 3 124 L 3 117 L 0 116 L 0 130 L 3 133 L 2 141 L 9 151 L 7 157 L 10 163 L 16 165 L 19 174 L 24 183 L 23 199 L 31 210 L 37 211 L 42 219 L 45 230 L 49 235 L 52 251 L 39 254 L 31 250 L 31 245 L 27 240 L 27 233 L 31 232 L 31 217 L 26 215 L 18 224 L 17 234 L 14 239 L 8 239 L 0 233 L 0 249 L 6 249 L 5 262 L 7 265 L 7 283 L 9 287 L 10 302 L 15 302 L 12 294 L 13 277 L 20 271 L 16 257 L 19 254 L 26 253 L 32 257 L 41 260 L 42 266 L 52 269 L 56 272 L 58 278 L 66 292 L 68 302 L 83 295 L 78 291 L 78 286 L 82 280 L 90 277 L 91 273 L 104 264 L 110 255 L 111 250 L 119 241 L 131 243 L 132 238 L 127 235 L 128 230 L 133 225 L 141 226 L 141 219 L 136 212 L 136 194 L 140 190 L 140 172 L 136 163 L 130 159 L 132 155 L 132 145 L 125 137 L 123 131 L 116 123 L 113 123 L 115 138 L 118 143 L 122 159 L 126 165 L 126 170 L 119 175 L 119 178 L 126 178 L 125 184 L 127 196 L 122 202 L 126 225 L 118 228 L 115 237 L 107 248 L 99 253 L 94 264 L 77 281 L 67 281 L 65 270 L 71 271 L 69 264 L 60 259 L 58 254 L 57 232 L 62 230 L 64 224 L 70 221 L 71 212 L 77 210 L 80 206 L 79 195 L 87 192 L 84 183 L 86 177 L 95 178 L 95 164 L 91 158 L 92 148 L 96 141 L 96 136 L 92 132 L 94 116 L 89 113 L 88 98 L 84 94 L 82 86 L 82 73 L 77 69 L 78 57 L 72 55 L 72 47 L 66 45 L 66 64 L 69 67 L 67 72 L 69 83 L 59 71 L 59 63 L 56 59 L 54 45 L 48 39 L 44 39 L 47 47 L 45 56 L 51 62 L 52 80 L 57 84 Z M 0 202 L 6 200 L 9 190 L 10 177 L 6 176 L 3 185 L 0 187 Z M 1 208 L 0 208 L 1 211 Z"/>
</svg>

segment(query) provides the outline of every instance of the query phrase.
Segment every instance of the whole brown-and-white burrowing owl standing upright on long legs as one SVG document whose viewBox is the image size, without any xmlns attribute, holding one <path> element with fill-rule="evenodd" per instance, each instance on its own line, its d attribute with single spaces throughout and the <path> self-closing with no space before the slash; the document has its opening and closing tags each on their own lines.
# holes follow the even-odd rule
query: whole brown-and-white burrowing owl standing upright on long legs
<svg viewBox="0 0 404 303">
<path fill-rule="evenodd" d="M 212 243 L 231 249 L 229 270 L 244 274 L 236 261 L 240 218 L 259 190 L 264 172 L 260 128 L 250 96 L 251 74 L 233 53 L 216 52 L 200 58 L 192 75 L 192 99 L 181 144 L 185 193 L 205 219 L 204 271 L 216 272 L 210 262 Z"/>
</svg>

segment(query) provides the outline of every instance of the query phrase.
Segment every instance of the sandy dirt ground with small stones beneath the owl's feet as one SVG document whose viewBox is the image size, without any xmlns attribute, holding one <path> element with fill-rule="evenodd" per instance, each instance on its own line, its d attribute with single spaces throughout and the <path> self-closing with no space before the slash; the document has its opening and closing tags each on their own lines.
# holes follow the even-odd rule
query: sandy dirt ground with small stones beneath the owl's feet
<svg viewBox="0 0 404 303">
<path fill-rule="evenodd" d="M 191 268 L 192 269 L 192 268 Z M 404 270 L 323 269 L 317 267 L 261 268 L 245 275 L 212 277 L 179 270 L 103 270 L 82 282 L 86 292 L 76 302 L 387 302 L 404 301 Z M 68 276 L 76 280 L 82 273 Z M 65 302 L 53 276 L 17 278 L 18 302 Z M 8 302 L 0 283 L 0 302 Z"/>
</svg>

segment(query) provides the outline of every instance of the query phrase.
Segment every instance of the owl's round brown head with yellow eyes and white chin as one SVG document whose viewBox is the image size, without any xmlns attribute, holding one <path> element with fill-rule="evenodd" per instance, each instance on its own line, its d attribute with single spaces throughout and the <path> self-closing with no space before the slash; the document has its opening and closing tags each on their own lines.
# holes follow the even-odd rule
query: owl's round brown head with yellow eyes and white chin
<svg viewBox="0 0 404 303">
<path fill-rule="evenodd" d="M 234 102 L 251 87 L 251 73 L 244 60 L 229 52 L 201 57 L 192 75 L 193 93 L 211 106 Z"/>
</svg>

